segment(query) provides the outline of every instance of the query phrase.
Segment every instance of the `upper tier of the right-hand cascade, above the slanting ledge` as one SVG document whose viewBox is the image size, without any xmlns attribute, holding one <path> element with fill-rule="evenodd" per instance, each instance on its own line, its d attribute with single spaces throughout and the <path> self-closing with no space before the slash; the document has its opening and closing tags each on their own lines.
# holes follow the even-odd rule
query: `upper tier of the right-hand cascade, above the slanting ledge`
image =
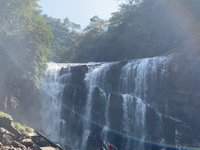
<svg viewBox="0 0 200 150">
<path fill-rule="evenodd" d="M 146 99 L 146 92 L 150 86 L 148 81 L 157 81 L 159 66 L 162 66 L 164 72 L 168 60 L 168 57 L 154 57 L 128 62 L 121 70 L 120 92 L 132 93 Z"/>
</svg>

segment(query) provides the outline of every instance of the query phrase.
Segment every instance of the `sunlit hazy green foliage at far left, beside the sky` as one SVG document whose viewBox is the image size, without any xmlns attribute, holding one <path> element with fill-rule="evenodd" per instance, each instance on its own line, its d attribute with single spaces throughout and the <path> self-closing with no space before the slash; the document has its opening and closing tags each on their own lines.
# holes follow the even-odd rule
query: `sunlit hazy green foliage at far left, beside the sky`
<svg viewBox="0 0 200 150">
<path fill-rule="evenodd" d="M 38 85 L 51 44 L 51 30 L 40 14 L 37 0 L 0 2 L 1 72 L 15 82 L 28 79 Z M 7 81 L 9 79 L 5 79 Z"/>
</svg>

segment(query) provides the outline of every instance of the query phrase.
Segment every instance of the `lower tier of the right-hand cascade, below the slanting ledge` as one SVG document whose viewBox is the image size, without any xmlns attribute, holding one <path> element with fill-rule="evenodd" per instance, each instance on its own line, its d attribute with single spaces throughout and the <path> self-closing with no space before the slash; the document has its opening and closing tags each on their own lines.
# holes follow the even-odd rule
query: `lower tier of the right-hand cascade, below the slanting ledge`
<svg viewBox="0 0 200 150">
<path fill-rule="evenodd" d="M 134 147 L 139 150 L 144 149 L 145 141 L 145 113 L 146 104 L 137 97 L 129 94 L 123 94 L 123 131 L 125 132 L 127 142 L 125 150 L 131 150 L 131 140 L 138 141 Z M 133 110 L 134 109 L 134 110 Z M 132 129 L 132 127 L 134 127 Z"/>
</svg>

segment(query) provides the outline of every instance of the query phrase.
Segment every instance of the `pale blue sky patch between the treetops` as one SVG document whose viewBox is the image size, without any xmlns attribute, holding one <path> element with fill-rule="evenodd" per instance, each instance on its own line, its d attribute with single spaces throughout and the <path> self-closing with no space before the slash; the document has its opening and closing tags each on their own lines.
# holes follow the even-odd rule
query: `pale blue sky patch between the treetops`
<svg viewBox="0 0 200 150">
<path fill-rule="evenodd" d="M 43 13 L 54 18 L 69 18 L 72 22 L 86 27 L 90 18 L 98 15 L 108 19 L 118 10 L 117 0 L 40 0 Z"/>
</svg>

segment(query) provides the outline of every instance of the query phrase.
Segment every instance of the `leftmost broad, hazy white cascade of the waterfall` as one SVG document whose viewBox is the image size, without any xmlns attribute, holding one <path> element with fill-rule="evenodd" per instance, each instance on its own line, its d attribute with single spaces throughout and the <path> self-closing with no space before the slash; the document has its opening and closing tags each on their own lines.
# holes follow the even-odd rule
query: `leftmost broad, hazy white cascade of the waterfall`
<svg viewBox="0 0 200 150">
<path fill-rule="evenodd" d="M 50 63 L 41 84 L 42 129 L 53 141 L 60 142 L 62 91 L 60 69 L 62 66 Z"/>
</svg>

